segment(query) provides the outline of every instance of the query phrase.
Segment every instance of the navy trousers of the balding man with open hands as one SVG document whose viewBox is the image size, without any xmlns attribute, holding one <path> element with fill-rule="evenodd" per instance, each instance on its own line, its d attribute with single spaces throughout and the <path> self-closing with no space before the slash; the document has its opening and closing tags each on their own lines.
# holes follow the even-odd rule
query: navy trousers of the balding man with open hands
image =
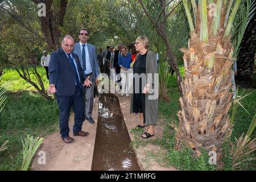
<svg viewBox="0 0 256 182">
<path fill-rule="evenodd" d="M 57 96 L 57 95 L 56 95 Z M 75 113 L 73 132 L 81 131 L 82 122 L 84 121 L 84 98 L 79 86 L 76 86 L 73 96 L 57 96 L 59 105 L 60 135 L 62 138 L 69 136 L 68 118 L 69 112 Z"/>
</svg>

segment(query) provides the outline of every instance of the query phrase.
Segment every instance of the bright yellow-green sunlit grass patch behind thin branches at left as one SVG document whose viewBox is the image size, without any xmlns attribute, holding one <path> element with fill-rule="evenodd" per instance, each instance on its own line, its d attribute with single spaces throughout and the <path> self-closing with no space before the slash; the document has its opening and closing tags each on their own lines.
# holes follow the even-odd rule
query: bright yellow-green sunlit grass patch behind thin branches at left
<svg viewBox="0 0 256 182">
<path fill-rule="evenodd" d="M 42 77 L 44 86 L 47 89 L 49 82 L 46 77 L 46 70 L 41 66 L 38 66 L 36 70 Z M 38 83 L 33 75 L 31 75 L 31 78 L 32 78 L 32 81 Z M 11 92 L 18 92 L 19 90 L 36 90 L 34 86 L 32 86 L 27 81 L 25 81 L 23 78 L 21 78 L 18 72 L 16 72 L 15 69 L 13 68 L 6 68 L 3 71 L 0 85 L 5 85 L 5 84 L 7 84 L 7 90 Z"/>
</svg>

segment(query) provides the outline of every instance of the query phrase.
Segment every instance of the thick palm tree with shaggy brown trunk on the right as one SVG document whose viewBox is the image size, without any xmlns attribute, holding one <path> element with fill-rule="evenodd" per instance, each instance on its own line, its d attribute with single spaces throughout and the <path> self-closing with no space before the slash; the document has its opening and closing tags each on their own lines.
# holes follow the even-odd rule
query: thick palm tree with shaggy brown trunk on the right
<svg viewBox="0 0 256 182">
<path fill-rule="evenodd" d="M 200 147 L 221 156 L 221 144 L 232 133 L 228 115 L 234 60 L 232 26 L 241 0 L 191 0 L 195 26 L 187 0 L 183 4 L 190 28 L 183 48 L 185 77 L 181 84 L 181 110 L 177 115 L 177 148 L 183 140 L 197 155 Z M 237 46 L 237 44 L 236 44 Z"/>
</svg>

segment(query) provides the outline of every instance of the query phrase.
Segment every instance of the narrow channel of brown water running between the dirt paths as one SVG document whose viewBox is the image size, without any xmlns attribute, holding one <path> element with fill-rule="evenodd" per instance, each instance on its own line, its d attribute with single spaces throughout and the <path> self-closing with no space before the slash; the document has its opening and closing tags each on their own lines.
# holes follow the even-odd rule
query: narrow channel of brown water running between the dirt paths
<svg viewBox="0 0 256 182">
<path fill-rule="evenodd" d="M 139 171 L 130 142 L 118 97 L 101 94 L 92 170 Z"/>
</svg>

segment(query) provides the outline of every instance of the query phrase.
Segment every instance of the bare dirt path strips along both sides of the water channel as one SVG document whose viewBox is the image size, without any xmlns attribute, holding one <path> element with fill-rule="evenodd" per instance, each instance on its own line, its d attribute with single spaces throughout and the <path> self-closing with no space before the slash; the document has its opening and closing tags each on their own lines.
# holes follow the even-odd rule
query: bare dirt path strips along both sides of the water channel
<svg viewBox="0 0 256 182">
<path fill-rule="evenodd" d="M 129 132 L 131 141 L 134 140 L 133 134 L 130 133 L 130 130 L 135 128 L 135 126 L 139 123 L 138 114 L 130 114 L 130 97 L 119 96 L 119 103 L 121 106 L 123 118 L 125 119 L 126 127 Z M 72 134 L 72 126 L 73 126 L 73 117 L 71 114 L 69 118 L 69 128 L 71 132 L 69 133 L 71 137 Z M 88 131 L 88 137 L 73 137 L 75 142 L 71 144 L 64 143 L 61 138 L 59 132 L 56 132 L 52 135 L 44 137 L 43 144 L 39 148 L 38 151 L 46 152 L 46 165 L 38 164 L 39 156 L 35 156 L 31 169 L 32 170 L 85 170 L 90 171 L 92 167 L 92 159 L 93 159 L 93 150 L 94 150 L 94 142 L 96 138 L 96 127 L 97 127 L 97 119 L 98 119 L 98 98 L 94 100 L 93 105 L 93 119 L 95 120 L 94 125 L 90 124 L 88 121 L 85 121 L 82 125 L 83 131 Z M 147 127 L 144 128 L 144 131 L 147 131 Z M 155 127 L 155 136 L 151 139 L 155 139 L 156 137 L 162 137 L 163 128 L 161 126 L 156 125 Z M 135 154 L 137 156 L 137 160 L 139 166 L 142 170 L 175 170 L 175 168 L 165 168 L 162 167 L 163 164 L 159 164 L 156 162 L 157 159 L 161 158 L 166 154 L 165 150 L 162 150 L 159 146 L 153 146 L 152 144 L 147 144 L 146 146 L 140 146 L 139 148 L 134 147 Z M 38 152 L 36 152 L 38 154 Z M 151 154 L 151 155 L 148 155 Z M 154 154 L 157 157 L 154 157 Z M 153 155 L 153 156 L 152 156 Z"/>
</svg>

